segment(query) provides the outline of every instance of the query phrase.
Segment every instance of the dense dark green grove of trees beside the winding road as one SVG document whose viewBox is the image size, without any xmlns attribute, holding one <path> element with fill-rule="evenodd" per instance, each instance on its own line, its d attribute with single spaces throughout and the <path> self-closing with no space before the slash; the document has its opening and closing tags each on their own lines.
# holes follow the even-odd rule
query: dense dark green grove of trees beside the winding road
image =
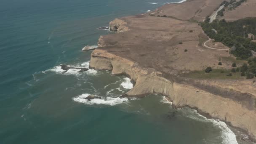
<svg viewBox="0 0 256 144">
<path fill-rule="evenodd" d="M 256 51 L 256 43 L 253 36 L 256 35 L 256 18 L 245 18 L 238 21 L 227 22 L 225 19 L 214 20 L 212 23 L 206 19 L 201 27 L 216 42 L 221 42 L 229 48 L 237 59 L 248 59 L 252 56 L 251 51 Z"/>
</svg>

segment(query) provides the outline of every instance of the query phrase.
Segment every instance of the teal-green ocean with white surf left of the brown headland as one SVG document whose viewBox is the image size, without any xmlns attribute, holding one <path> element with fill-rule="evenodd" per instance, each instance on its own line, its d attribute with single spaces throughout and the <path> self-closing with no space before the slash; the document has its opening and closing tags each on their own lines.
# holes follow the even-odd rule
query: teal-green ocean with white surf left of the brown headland
<svg viewBox="0 0 256 144">
<path fill-rule="evenodd" d="M 81 49 L 111 33 L 98 27 L 179 2 L 2 0 L 0 144 L 237 144 L 225 123 L 164 96 L 118 98 L 133 86 L 127 77 L 60 68 L 88 68 L 91 51 Z"/>
</svg>

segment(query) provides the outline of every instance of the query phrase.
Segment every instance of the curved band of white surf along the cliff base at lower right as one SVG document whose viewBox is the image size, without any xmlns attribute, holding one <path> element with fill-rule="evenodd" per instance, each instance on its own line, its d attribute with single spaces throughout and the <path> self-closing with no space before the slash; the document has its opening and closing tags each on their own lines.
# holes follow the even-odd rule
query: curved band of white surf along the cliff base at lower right
<svg viewBox="0 0 256 144">
<path fill-rule="evenodd" d="M 185 116 L 197 121 L 211 122 L 221 128 L 221 137 L 223 139 L 222 144 L 238 144 L 235 133 L 228 128 L 226 123 L 214 119 L 208 119 L 197 113 L 195 109 L 189 110 L 189 114 L 186 114 Z"/>
</svg>

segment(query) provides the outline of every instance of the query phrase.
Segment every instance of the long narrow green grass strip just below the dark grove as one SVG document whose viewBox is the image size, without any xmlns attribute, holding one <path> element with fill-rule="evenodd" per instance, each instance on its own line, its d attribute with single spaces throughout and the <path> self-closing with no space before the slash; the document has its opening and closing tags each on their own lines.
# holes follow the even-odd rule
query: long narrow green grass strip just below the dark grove
<svg viewBox="0 0 256 144">
<path fill-rule="evenodd" d="M 227 76 L 229 73 L 232 73 L 232 76 Z M 231 72 L 231 70 L 226 69 L 213 69 L 209 73 L 206 73 L 205 70 L 191 71 L 181 76 L 195 79 L 244 79 L 245 77 L 241 77 L 240 74 L 241 72 Z"/>
</svg>

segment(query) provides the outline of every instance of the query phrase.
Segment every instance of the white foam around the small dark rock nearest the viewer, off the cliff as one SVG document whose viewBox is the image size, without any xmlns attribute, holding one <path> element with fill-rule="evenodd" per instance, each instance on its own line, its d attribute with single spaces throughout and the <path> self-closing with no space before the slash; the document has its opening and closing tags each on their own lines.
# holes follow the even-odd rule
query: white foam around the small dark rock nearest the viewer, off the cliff
<svg viewBox="0 0 256 144">
<path fill-rule="evenodd" d="M 105 104 L 105 105 L 111 105 L 111 106 L 128 102 L 128 98 L 119 98 L 119 97 L 117 98 L 107 97 L 106 99 L 92 99 L 91 101 L 88 101 L 85 98 L 89 95 L 90 94 L 88 93 L 84 93 L 80 96 L 73 98 L 73 100 L 79 103 L 88 104 L 88 105 Z"/>
</svg>

